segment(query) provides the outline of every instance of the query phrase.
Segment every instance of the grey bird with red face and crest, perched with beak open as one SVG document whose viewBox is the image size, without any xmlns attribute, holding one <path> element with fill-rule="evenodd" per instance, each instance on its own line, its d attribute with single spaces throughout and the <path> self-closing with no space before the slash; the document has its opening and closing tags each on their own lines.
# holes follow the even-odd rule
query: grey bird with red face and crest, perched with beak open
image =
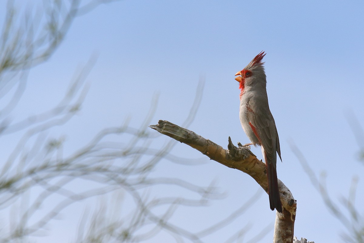
<svg viewBox="0 0 364 243">
<path fill-rule="evenodd" d="M 261 51 L 235 76 L 240 89 L 240 122 L 251 143 L 245 146 L 261 146 L 268 179 L 270 209 L 282 212 L 282 203 L 278 189 L 277 153 L 281 157 L 278 132 L 272 113 L 269 110 L 266 90 L 266 75 Z"/>
</svg>

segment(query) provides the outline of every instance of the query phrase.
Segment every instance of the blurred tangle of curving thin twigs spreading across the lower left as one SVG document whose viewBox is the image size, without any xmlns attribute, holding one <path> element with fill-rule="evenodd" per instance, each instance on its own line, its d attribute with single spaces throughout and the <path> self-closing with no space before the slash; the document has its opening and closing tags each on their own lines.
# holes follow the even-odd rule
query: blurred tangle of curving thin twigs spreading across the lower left
<svg viewBox="0 0 364 243">
<path fill-rule="evenodd" d="M 86 70 L 89 69 L 86 68 Z M 16 205 L 15 203 L 21 201 L 23 201 L 21 203 L 23 207 L 21 210 L 17 210 L 19 217 L 14 218 L 11 223 L 14 227 L 9 229 L 9 234 L 2 235 L 0 242 L 11 242 L 13 239 L 24 240 L 28 236 L 40 234 L 65 208 L 76 201 L 117 192 L 120 189 L 134 200 L 135 208 L 132 216 L 122 217 L 116 221 L 100 218 L 103 210 L 100 208 L 101 212 L 95 211 L 95 217 L 92 219 L 95 221 L 89 225 L 91 228 L 87 230 L 88 233 L 80 233 L 77 236 L 78 239 L 82 238 L 78 242 L 83 240 L 88 242 L 91 239 L 103 239 L 104 242 L 119 241 L 120 239 L 124 242 L 139 242 L 154 237 L 161 231 L 167 232 L 176 240 L 189 239 L 192 242 L 202 242 L 200 238 L 225 227 L 230 220 L 245 212 L 245 210 L 239 209 L 234 212 L 234 215 L 228 216 L 220 223 L 216 222 L 214 226 L 195 234 L 170 223 L 169 219 L 177 207 L 205 206 L 209 200 L 219 199 L 222 195 L 216 192 L 213 185 L 201 187 L 177 178 L 150 177 L 152 169 L 164 158 L 182 164 L 187 164 L 188 160 L 170 154 L 171 148 L 176 144 L 174 141 L 158 150 L 151 148 L 151 141 L 154 141 L 156 137 L 142 126 L 135 129 L 126 122 L 119 127 L 103 129 L 90 142 L 74 153 L 64 156 L 65 140 L 63 138 L 50 139 L 46 134 L 51 132 L 55 126 L 66 123 L 79 110 L 71 109 L 75 106 L 80 107 L 83 102 L 83 98 L 80 97 L 84 97 L 86 94 L 82 91 L 85 89 L 82 83 L 86 75 L 79 77 L 83 78 L 74 81 L 75 83 L 67 91 L 66 98 L 56 108 L 41 115 L 35 115 L 32 119 L 8 125 L 3 129 L 4 134 L 12 134 L 21 130 L 26 132 L 1 170 L 0 207 L 3 209 L 13 207 Z M 79 98 L 76 98 L 76 95 Z M 196 95 L 201 95 L 201 93 L 197 92 Z M 198 102 L 199 99 L 195 99 L 195 101 Z M 153 118 L 156 105 L 157 99 L 151 104 L 151 110 L 146 118 L 147 122 Z M 196 105 L 194 102 L 193 107 Z M 189 121 L 191 119 L 193 116 L 188 118 Z M 143 124 L 145 123 L 143 122 Z M 118 142 L 120 138 L 116 141 L 110 140 L 114 136 L 120 138 L 123 136 L 124 140 L 129 141 Z M 32 149 L 24 150 L 27 145 L 31 144 Z M 23 155 L 20 156 L 20 154 Z M 19 166 L 20 164 L 23 166 Z M 99 187 L 75 191 L 71 185 L 80 180 L 93 181 Z M 199 195 L 199 198 L 161 196 L 157 199 L 149 199 L 143 196 L 145 189 L 160 185 L 187 190 Z M 40 188 L 41 191 L 39 194 L 33 194 L 34 199 L 29 200 L 25 195 L 34 187 Z M 55 196 L 61 198 L 61 200 L 57 200 L 58 203 L 54 203 Z M 48 212 L 39 216 L 41 209 L 47 205 L 49 200 L 53 201 L 52 207 Z M 157 215 L 153 212 L 157 208 L 160 211 L 161 207 L 165 208 L 164 213 Z M 247 208 L 248 205 L 245 204 L 244 209 Z M 34 220 L 35 215 L 37 215 L 36 220 Z M 151 223 L 154 226 L 150 231 L 142 230 Z M 95 227 L 99 230 L 95 230 Z"/>
</svg>

